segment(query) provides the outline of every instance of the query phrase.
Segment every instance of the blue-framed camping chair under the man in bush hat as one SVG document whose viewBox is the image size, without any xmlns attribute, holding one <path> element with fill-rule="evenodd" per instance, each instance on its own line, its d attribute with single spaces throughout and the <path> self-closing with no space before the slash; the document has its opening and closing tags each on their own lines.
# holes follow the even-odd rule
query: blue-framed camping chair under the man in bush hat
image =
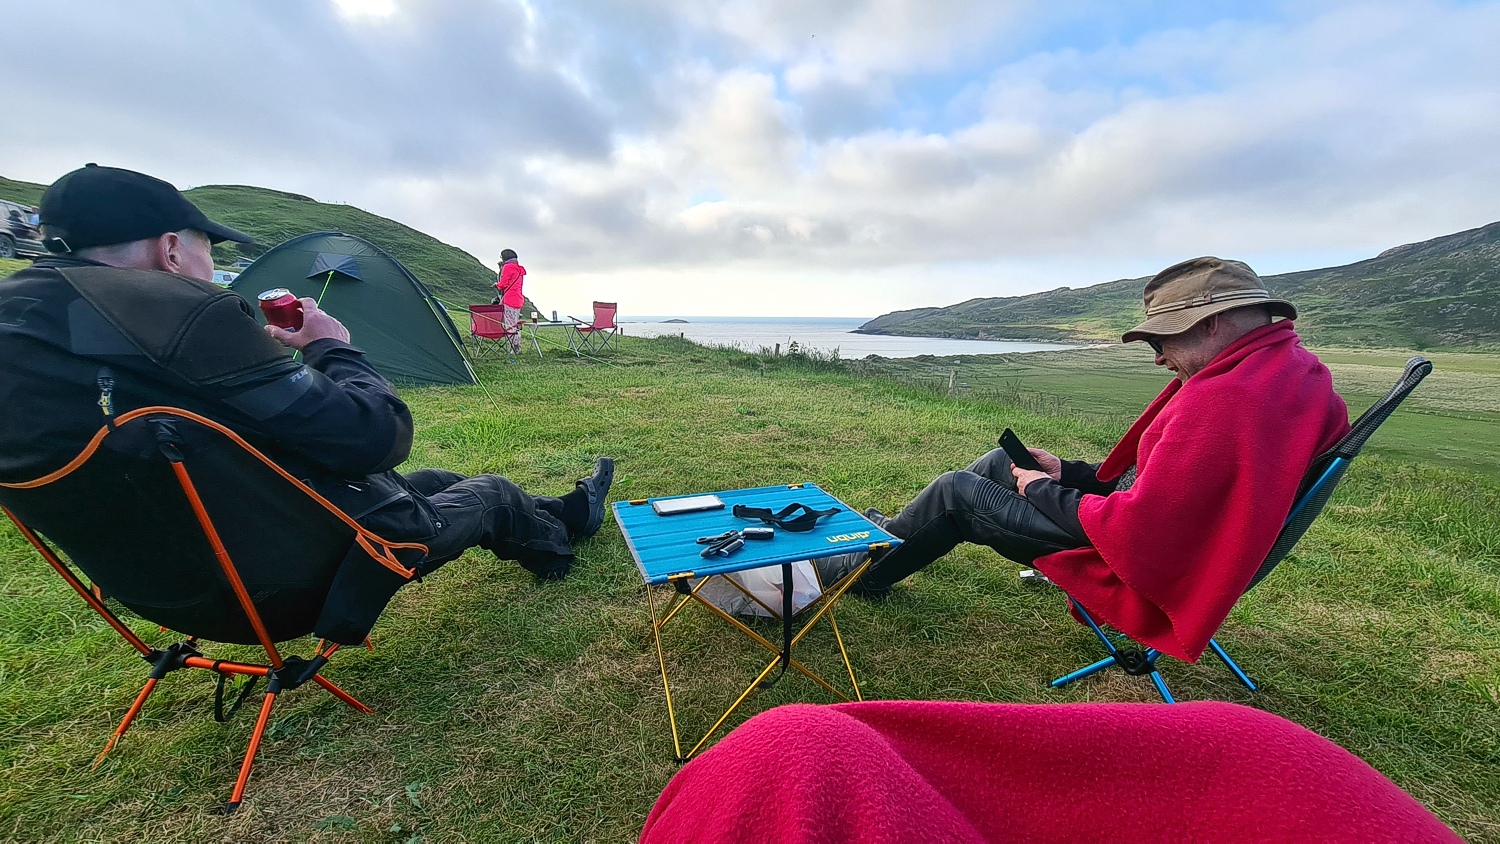
<svg viewBox="0 0 1500 844">
<path fill-rule="evenodd" d="M 1298 544 L 1302 534 L 1306 534 L 1308 526 L 1311 526 L 1312 520 L 1323 511 L 1323 505 L 1326 505 L 1328 499 L 1334 495 L 1334 489 L 1341 480 L 1344 480 L 1344 474 L 1348 471 L 1348 463 L 1365 447 L 1365 442 L 1372 433 L 1376 433 L 1380 423 L 1386 421 L 1390 414 L 1401 406 L 1401 402 L 1412 393 L 1412 390 L 1416 390 L 1416 385 L 1420 384 L 1422 379 L 1431 372 L 1431 361 L 1420 357 L 1408 360 L 1406 372 L 1396 381 L 1395 387 L 1392 387 L 1383 399 L 1371 405 L 1368 411 L 1360 414 L 1360 417 L 1350 427 L 1350 432 L 1344 435 L 1344 438 L 1340 439 L 1334 448 L 1312 460 L 1312 466 L 1302 478 L 1302 487 L 1298 492 L 1298 498 L 1292 504 L 1292 513 L 1287 516 L 1287 520 L 1281 528 L 1281 534 L 1276 535 L 1276 543 L 1270 547 L 1270 553 L 1266 555 L 1266 561 L 1260 564 L 1256 576 L 1250 580 L 1250 586 L 1245 586 L 1245 592 L 1254 589 L 1257 583 L 1270 574 L 1270 570 L 1275 568 L 1276 564 L 1292 553 L 1293 546 Z M 1035 573 L 1022 574 L 1030 574 L 1035 577 Z M 1155 648 L 1143 649 L 1136 645 L 1118 648 L 1113 642 L 1110 642 L 1110 637 L 1102 628 L 1100 628 L 1100 624 L 1094 621 L 1094 616 L 1089 615 L 1083 604 L 1072 601 L 1072 607 L 1077 610 L 1078 618 L 1082 618 L 1084 624 L 1089 625 L 1089 630 L 1094 631 L 1094 636 L 1096 636 L 1104 645 L 1104 651 L 1108 652 L 1108 657 L 1094 663 L 1092 666 L 1084 666 L 1071 675 L 1064 675 L 1052 681 L 1053 688 L 1062 688 L 1076 679 L 1083 679 L 1112 666 L 1119 666 L 1126 675 L 1149 676 L 1150 682 L 1161 694 L 1161 699 L 1167 703 L 1176 703 L 1176 699 L 1172 697 L 1172 691 L 1167 688 L 1167 684 L 1161 679 L 1161 673 L 1156 670 L 1156 660 L 1161 658 L 1161 651 L 1156 651 Z M 1228 666 L 1228 670 L 1234 673 L 1234 678 L 1239 679 L 1239 682 L 1245 684 L 1245 688 L 1256 691 L 1256 682 L 1251 681 L 1250 675 L 1246 675 L 1234 663 L 1234 660 L 1228 657 L 1224 646 L 1220 645 L 1216 639 L 1209 639 L 1209 649 L 1212 649 L 1220 660 L 1224 660 L 1224 664 Z"/>
</svg>

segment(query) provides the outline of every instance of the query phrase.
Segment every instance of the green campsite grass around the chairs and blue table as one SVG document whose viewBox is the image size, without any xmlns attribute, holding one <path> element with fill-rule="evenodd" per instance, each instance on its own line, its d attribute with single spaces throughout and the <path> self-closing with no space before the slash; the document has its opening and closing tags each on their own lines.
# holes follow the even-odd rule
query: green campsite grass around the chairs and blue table
<svg viewBox="0 0 1500 844">
<path fill-rule="evenodd" d="M 556 493 L 612 454 L 612 498 L 812 480 L 855 507 L 896 508 L 1005 424 L 1053 451 L 1101 457 L 1161 376 L 1124 352 L 1071 355 L 1028 357 L 1032 370 L 994 369 L 993 381 L 976 372 L 994 361 L 975 363 L 975 375 L 962 363 L 960 379 L 984 394 L 948 397 L 842 364 L 627 339 L 608 364 L 549 352 L 544 363 L 486 367 L 489 393 L 404 391 L 418 420 L 408 465 L 502 472 Z M 1354 405 L 1383 391 L 1404 360 L 1329 357 Z M 930 361 L 902 366 L 910 369 L 858 369 L 933 376 L 920 369 Z M 1299 550 L 1230 616 L 1221 642 L 1262 691 L 1246 693 L 1212 660 L 1164 670 L 1180 697 L 1298 721 L 1472 841 L 1500 841 L 1500 480 L 1462 468 L 1494 442 L 1496 409 L 1484 406 L 1492 393 L 1470 396 L 1460 373 L 1494 378 L 1494 367 L 1480 355 L 1440 360 Z M 1444 433 L 1431 433 L 1436 424 Z M 340 652 L 330 667 L 376 714 L 312 688 L 286 696 L 249 799 L 225 819 L 214 808 L 252 720 L 213 723 L 212 682 L 177 675 L 90 771 L 144 666 L 6 526 L 0 838 L 632 841 L 676 771 L 642 597 L 612 523 L 579 547 L 562 583 L 466 555 L 398 595 L 375 652 Z M 1048 690 L 1096 645 L 1058 592 L 1024 586 L 988 549 L 954 552 L 888 601 L 842 606 L 870 697 L 1152 700 L 1148 684 L 1122 676 Z M 688 615 L 668 642 L 686 732 L 706 729 L 726 690 L 762 664 L 711 621 Z M 802 655 L 834 676 L 826 633 Z M 792 700 L 826 697 L 789 678 L 753 697 L 747 715 Z"/>
</svg>

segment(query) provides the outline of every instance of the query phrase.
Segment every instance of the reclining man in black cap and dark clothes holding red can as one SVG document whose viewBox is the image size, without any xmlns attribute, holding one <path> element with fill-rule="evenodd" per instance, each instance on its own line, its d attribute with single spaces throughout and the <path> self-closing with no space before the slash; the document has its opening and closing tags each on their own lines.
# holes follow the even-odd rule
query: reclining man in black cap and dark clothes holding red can
<svg viewBox="0 0 1500 844">
<path fill-rule="evenodd" d="M 166 181 L 88 165 L 46 189 L 40 217 L 52 255 L 0 280 L 0 480 L 63 466 L 105 424 L 100 408 L 165 405 L 234 429 L 376 534 L 426 544 L 423 573 L 480 546 L 560 579 L 572 541 L 598 531 L 608 457 L 560 498 L 496 475 L 394 472 L 412 421 L 392 385 L 314 300 L 300 330 L 267 331 L 210 283 L 212 244 L 250 237 Z"/>
</svg>

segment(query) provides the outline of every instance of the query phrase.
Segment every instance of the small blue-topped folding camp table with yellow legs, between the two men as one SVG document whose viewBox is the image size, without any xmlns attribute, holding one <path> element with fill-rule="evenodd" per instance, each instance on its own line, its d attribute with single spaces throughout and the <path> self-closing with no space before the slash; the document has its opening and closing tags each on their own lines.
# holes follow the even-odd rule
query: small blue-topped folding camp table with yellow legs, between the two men
<svg viewBox="0 0 1500 844">
<path fill-rule="evenodd" d="M 832 630 L 834 640 L 838 643 L 838 654 L 843 657 L 844 669 L 849 672 L 854 697 L 855 700 L 864 700 L 860 693 L 860 681 L 854 676 L 854 666 L 849 664 L 849 652 L 844 648 L 843 636 L 838 633 L 838 622 L 834 619 L 834 604 L 837 604 L 844 591 L 848 591 L 849 586 L 861 574 L 864 574 L 870 561 L 864 561 L 861 565 L 855 567 L 852 571 L 832 583 L 819 583 L 822 595 L 802 607 L 800 613 L 792 610 L 792 564 L 804 559 L 816 561 L 850 552 L 876 553 L 900 544 L 900 540 L 891 537 L 885 531 L 880 531 L 867 519 L 852 511 L 849 505 L 828 495 L 816 484 L 740 489 L 717 492 L 714 495 L 724 502 L 723 510 L 658 516 L 656 510 L 651 508 L 652 501 L 688 496 L 668 496 L 628 502 L 616 501 L 614 505 L 615 520 L 620 523 L 620 532 L 624 534 L 626 544 L 630 546 L 630 553 L 634 556 L 640 576 L 646 582 L 646 607 L 651 612 L 651 634 L 656 639 L 657 661 L 662 666 L 662 687 L 666 690 L 666 714 L 668 721 L 672 726 L 672 747 L 676 751 L 676 759 L 680 762 L 692 759 L 693 754 L 702 750 L 708 739 L 718 732 L 718 727 L 722 727 L 724 721 L 734 715 L 735 709 L 738 709 L 740 705 L 750 697 L 750 693 L 760 687 L 760 684 L 764 684 L 766 678 L 771 676 L 771 672 L 774 672 L 778 666 L 782 672 L 792 669 L 825 688 L 834 697 L 849 700 L 848 696 L 836 690 L 828 681 L 822 679 L 792 657 L 792 649 L 825 616 L 828 618 L 828 627 Z M 774 540 L 747 541 L 742 549 L 728 558 L 700 556 L 705 546 L 696 543 L 698 537 L 712 537 L 726 531 L 764 526 L 759 520 L 736 519 L 734 516 L 734 507 L 736 504 L 780 511 L 792 502 L 806 504 L 813 510 L 828 510 L 831 507 L 837 507 L 838 513 L 826 519 L 819 519 L 813 529 L 807 532 L 792 532 L 777 528 Z M 722 577 L 735 571 L 747 571 L 768 565 L 782 567 L 783 600 L 780 609 L 766 606 L 735 580 Z M 774 645 L 742 621 L 710 603 L 699 594 L 704 589 L 704 585 L 710 583 L 716 577 L 730 583 L 735 589 L 744 592 L 747 598 L 756 601 L 766 612 L 782 619 L 780 645 Z M 670 583 L 676 589 L 676 595 L 668 598 L 668 606 L 664 607 L 666 612 L 658 616 L 656 600 L 651 597 L 651 586 L 662 583 Z M 682 610 L 682 607 L 686 607 L 690 601 L 702 604 L 716 616 L 729 622 L 776 657 L 765 667 L 765 670 L 762 670 L 760 675 L 746 687 L 740 697 L 729 705 L 729 709 L 718 717 L 714 726 L 704 733 L 704 738 L 693 745 L 693 750 L 682 754 L 682 742 L 676 729 L 676 711 L 672 706 L 672 682 L 668 679 L 666 654 L 662 646 L 662 630 L 668 625 L 668 622 L 676 618 L 678 612 Z M 801 630 L 795 630 L 798 621 L 801 621 Z"/>
</svg>

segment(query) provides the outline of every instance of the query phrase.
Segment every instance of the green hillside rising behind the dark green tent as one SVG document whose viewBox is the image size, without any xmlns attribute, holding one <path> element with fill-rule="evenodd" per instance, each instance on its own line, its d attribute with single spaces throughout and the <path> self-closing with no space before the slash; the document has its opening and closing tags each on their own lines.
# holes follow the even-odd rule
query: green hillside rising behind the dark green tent
<svg viewBox="0 0 1500 844">
<path fill-rule="evenodd" d="M 3 199 L 36 204 L 44 189 L 44 184 L 0 177 Z M 208 184 L 186 193 L 208 217 L 255 237 L 254 244 L 216 246 L 213 256 L 220 267 L 228 267 L 242 256 L 256 258 L 272 246 L 300 234 L 342 231 L 390 252 L 434 294 L 453 304 L 489 301 L 495 295 L 492 288 L 495 270 L 468 252 L 352 205 L 333 205 L 298 193 L 243 184 Z M 528 300 L 528 309 L 530 306 Z"/>
</svg>

